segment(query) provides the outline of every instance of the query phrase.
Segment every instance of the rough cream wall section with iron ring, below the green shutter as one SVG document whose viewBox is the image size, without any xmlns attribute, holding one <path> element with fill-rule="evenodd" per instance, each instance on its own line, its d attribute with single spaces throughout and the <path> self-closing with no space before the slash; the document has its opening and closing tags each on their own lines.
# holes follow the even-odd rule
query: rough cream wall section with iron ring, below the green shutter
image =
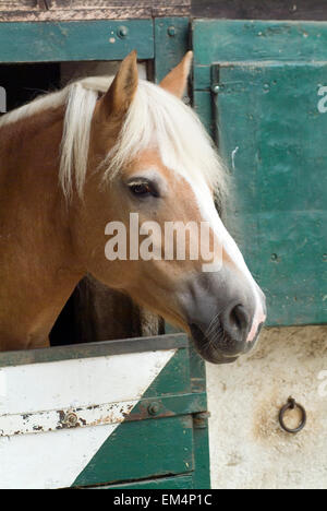
<svg viewBox="0 0 327 511">
<path fill-rule="evenodd" d="M 255 352 L 207 377 L 213 488 L 327 487 L 327 326 L 267 329 Z M 296 435 L 278 423 L 290 395 L 307 412 Z"/>
</svg>

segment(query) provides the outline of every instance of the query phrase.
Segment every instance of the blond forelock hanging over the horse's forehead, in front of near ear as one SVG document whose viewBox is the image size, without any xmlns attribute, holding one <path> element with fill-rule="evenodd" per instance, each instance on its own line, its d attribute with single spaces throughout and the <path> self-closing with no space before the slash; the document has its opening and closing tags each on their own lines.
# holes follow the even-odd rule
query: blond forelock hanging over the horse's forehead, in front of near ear
<svg viewBox="0 0 327 511">
<path fill-rule="evenodd" d="M 105 161 L 105 179 L 148 148 L 157 148 L 164 165 L 175 174 L 193 182 L 205 180 L 225 195 L 226 170 L 198 117 L 164 88 L 140 81 L 119 139 Z"/>
</svg>

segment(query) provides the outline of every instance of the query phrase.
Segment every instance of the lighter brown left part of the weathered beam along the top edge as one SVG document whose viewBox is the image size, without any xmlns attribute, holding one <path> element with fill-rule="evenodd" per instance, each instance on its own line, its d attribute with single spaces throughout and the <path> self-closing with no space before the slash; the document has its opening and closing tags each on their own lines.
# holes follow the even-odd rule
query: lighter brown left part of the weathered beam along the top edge
<svg viewBox="0 0 327 511">
<path fill-rule="evenodd" d="M 191 0 L 0 0 L 0 22 L 147 19 L 190 12 Z"/>
</svg>

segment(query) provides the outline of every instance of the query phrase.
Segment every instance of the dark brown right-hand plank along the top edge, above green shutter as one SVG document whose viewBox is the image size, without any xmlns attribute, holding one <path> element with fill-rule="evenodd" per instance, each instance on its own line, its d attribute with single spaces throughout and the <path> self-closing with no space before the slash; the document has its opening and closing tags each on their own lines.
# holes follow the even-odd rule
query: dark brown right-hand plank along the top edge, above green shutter
<svg viewBox="0 0 327 511">
<path fill-rule="evenodd" d="M 195 17 L 233 20 L 327 20 L 325 0 L 192 0 Z"/>
</svg>

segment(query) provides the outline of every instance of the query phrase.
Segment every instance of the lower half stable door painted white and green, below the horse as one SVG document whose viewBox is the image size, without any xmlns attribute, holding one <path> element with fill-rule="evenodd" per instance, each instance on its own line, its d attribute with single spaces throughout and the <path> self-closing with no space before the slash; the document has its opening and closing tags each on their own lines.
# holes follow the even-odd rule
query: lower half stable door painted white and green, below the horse
<svg viewBox="0 0 327 511">
<path fill-rule="evenodd" d="M 3 353 L 0 397 L 1 488 L 210 487 L 185 334 Z"/>
</svg>

